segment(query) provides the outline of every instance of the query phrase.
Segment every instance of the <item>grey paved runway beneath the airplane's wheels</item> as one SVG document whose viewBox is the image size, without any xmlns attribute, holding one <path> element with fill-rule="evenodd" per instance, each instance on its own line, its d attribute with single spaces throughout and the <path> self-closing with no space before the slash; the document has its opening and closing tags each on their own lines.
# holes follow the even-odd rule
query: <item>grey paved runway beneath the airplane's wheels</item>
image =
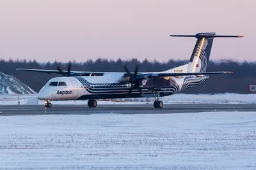
<svg viewBox="0 0 256 170">
<path fill-rule="evenodd" d="M 96 108 L 87 105 L 54 104 L 52 108 L 44 105 L 0 105 L 4 116 L 14 115 L 90 115 L 99 113 L 117 114 L 168 114 L 196 113 L 205 111 L 256 111 L 256 104 L 164 104 L 155 109 L 153 104 L 102 104 Z"/>
</svg>

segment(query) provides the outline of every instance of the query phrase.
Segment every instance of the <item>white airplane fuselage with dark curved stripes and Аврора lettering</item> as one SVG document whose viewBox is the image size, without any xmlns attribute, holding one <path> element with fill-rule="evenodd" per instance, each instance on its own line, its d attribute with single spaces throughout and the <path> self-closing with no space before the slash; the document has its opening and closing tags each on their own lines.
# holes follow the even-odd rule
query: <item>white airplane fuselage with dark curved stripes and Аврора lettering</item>
<svg viewBox="0 0 256 170">
<path fill-rule="evenodd" d="M 106 73 L 103 76 L 56 77 L 49 80 L 38 93 L 40 100 L 67 101 L 86 99 L 128 98 L 131 83 L 118 83 L 124 73 Z M 132 89 L 129 97 L 154 97 L 152 89 L 158 89 L 160 96 L 170 96 L 204 82 L 208 76 L 183 76 L 148 78 L 141 80 L 141 92 Z M 153 80 L 154 79 L 154 80 Z M 163 85 L 164 81 L 164 85 Z M 152 82 L 154 84 L 152 85 Z"/>
</svg>

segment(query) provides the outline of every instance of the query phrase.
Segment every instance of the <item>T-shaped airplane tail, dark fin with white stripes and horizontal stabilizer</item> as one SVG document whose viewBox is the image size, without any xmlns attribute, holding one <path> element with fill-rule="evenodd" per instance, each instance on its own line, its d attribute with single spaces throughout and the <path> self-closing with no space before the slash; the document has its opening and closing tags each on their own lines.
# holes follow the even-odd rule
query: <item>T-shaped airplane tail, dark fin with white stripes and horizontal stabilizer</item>
<svg viewBox="0 0 256 170">
<path fill-rule="evenodd" d="M 210 58 L 213 38 L 241 38 L 243 36 L 216 36 L 215 32 L 198 33 L 196 35 L 170 35 L 175 37 L 195 37 L 197 38 L 195 48 L 189 59 L 188 73 L 206 72 Z"/>
</svg>

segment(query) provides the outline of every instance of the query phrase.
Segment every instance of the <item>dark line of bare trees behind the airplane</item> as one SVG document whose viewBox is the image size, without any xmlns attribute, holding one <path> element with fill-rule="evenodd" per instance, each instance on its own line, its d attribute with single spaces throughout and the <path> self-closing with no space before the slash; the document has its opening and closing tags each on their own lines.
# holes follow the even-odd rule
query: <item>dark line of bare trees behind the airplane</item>
<svg viewBox="0 0 256 170">
<path fill-rule="evenodd" d="M 145 59 L 112 60 L 98 58 L 96 60 L 87 59 L 84 62 L 72 62 L 72 71 L 113 71 L 125 72 L 124 66 L 127 66 L 131 72 L 134 72 L 136 64 L 140 64 L 139 72 L 146 71 L 165 71 L 173 67 L 187 64 L 188 60 L 168 60 L 159 62 L 157 60 L 149 61 Z M 35 73 L 27 71 L 16 71 L 17 68 L 29 69 L 56 69 L 60 66 L 67 70 L 68 63 L 63 62 L 44 62 L 39 63 L 36 60 L 20 59 L 0 59 L 0 71 L 4 74 L 12 74 L 24 82 L 31 89 L 39 92 L 45 83 L 53 77 L 61 74 Z M 248 86 L 256 84 L 256 62 L 237 62 L 234 60 L 216 60 L 209 61 L 207 71 L 234 71 L 234 74 L 211 75 L 209 80 L 203 84 L 184 90 L 187 94 L 218 94 L 218 93 L 238 93 L 248 94 Z"/>
</svg>

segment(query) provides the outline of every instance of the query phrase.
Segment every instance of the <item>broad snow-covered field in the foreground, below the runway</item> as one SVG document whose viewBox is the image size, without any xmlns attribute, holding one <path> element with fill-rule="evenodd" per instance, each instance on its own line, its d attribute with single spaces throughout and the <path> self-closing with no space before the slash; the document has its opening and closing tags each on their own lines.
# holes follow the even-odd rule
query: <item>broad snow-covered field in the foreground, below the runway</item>
<svg viewBox="0 0 256 170">
<path fill-rule="evenodd" d="M 256 169 L 255 112 L 0 117 L 0 169 Z"/>
</svg>

